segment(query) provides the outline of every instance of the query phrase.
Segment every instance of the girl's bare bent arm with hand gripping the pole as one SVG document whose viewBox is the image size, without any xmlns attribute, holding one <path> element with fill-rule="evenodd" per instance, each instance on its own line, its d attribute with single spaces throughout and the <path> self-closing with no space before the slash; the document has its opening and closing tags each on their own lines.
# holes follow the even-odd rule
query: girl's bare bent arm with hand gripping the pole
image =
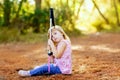
<svg viewBox="0 0 120 80">
<path fill-rule="evenodd" d="M 65 48 L 67 46 L 66 43 L 65 42 L 60 42 L 59 49 L 56 48 L 56 46 L 54 45 L 52 40 L 48 40 L 48 44 L 51 47 L 51 50 L 53 52 L 53 56 L 57 59 L 61 58 L 64 51 L 65 51 Z"/>
</svg>

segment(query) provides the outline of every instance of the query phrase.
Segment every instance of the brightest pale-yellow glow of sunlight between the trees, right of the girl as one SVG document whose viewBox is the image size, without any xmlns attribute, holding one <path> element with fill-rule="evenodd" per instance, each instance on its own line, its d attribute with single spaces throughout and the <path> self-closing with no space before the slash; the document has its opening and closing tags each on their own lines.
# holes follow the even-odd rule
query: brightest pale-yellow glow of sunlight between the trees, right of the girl
<svg viewBox="0 0 120 80">
<path fill-rule="evenodd" d="M 94 26 L 90 25 L 93 19 L 95 19 L 96 15 L 95 11 L 93 11 L 93 8 L 94 4 L 91 0 L 85 0 L 82 7 L 80 8 L 79 18 L 76 20 L 75 27 L 79 29 L 83 34 L 96 33 L 97 31 Z"/>
</svg>

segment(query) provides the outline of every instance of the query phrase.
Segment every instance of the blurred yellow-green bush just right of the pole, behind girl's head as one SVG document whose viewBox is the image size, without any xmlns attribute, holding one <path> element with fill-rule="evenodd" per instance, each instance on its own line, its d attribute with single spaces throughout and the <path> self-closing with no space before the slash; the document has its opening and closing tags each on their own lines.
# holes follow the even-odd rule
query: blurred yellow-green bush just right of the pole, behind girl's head
<svg viewBox="0 0 120 80">
<path fill-rule="evenodd" d="M 75 28 L 76 16 L 74 15 L 74 10 L 65 3 L 61 6 L 62 8 L 55 9 L 56 23 L 63 27 L 67 34 L 80 35 L 81 32 Z"/>
</svg>

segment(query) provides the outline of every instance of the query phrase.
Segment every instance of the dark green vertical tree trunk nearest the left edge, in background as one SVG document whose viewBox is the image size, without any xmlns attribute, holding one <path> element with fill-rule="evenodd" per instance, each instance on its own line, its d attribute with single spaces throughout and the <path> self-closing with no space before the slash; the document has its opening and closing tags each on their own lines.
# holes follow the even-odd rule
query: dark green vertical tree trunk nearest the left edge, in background
<svg viewBox="0 0 120 80">
<path fill-rule="evenodd" d="M 10 0 L 4 0 L 4 26 L 10 24 L 11 2 Z"/>
</svg>

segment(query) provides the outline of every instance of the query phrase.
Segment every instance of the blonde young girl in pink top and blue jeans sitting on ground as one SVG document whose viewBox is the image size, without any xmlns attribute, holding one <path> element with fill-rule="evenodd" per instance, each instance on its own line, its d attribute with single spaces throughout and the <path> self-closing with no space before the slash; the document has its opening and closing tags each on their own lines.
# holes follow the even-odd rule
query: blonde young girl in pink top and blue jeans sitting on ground
<svg viewBox="0 0 120 80">
<path fill-rule="evenodd" d="M 20 76 L 37 76 L 45 74 L 71 74 L 72 62 L 71 62 L 71 42 L 69 37 L 63 31 L 60 26 L 52 27 L 48 30 L 48 36 L 51 39 L 48 40 L 48 49 L 52 51 L 53 63 L 37 66 L 32 70 L 24 71 L 20 70 L 18 74 Z M 48 71 L 50 67 L 50 72 Z"/>
</svg>

